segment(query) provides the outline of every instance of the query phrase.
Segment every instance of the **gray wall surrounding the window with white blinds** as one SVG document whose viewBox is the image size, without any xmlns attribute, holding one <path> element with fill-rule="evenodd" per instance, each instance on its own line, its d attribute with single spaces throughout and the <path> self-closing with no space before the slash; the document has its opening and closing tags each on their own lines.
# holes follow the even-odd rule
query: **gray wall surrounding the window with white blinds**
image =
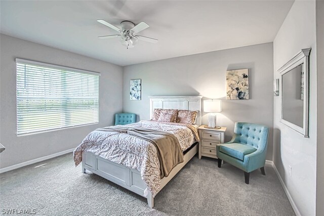
<svg viewBox="0 0 324 216">
<path fill-rule="evenodd" d="M 55 48 L 0 35 L 1 46 L 1 140 L 6 147 L 0 167 L 22 163 L 75 148 L 92 130 L 111 125 L 114 113 L 122 110 L 123 68 Z M 16 132 L 15 58 L 57 64 L 101 73 L 99 83 L 99 124 L 25 136 Z M 117 90 L 117 91 L 116 91 Z M 4 115 L 5 114 L 5 115 Z"/>
</svg>

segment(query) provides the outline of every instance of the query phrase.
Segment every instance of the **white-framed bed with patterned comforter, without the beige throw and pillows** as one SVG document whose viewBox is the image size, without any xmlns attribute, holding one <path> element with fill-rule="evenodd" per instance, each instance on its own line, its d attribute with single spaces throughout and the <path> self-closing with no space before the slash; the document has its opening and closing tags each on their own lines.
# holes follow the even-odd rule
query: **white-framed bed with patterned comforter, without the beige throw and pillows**
<svg viewBox="0 0 324 216">
<path fill-rule="evenodd" d="M 154 109 L 197 110 L 198 114 L 195 125 L 201 124 L 200 96 L 150 97 L 150 119 L 153 116 Z M 130 128 L 127 130 L 135 130 L 137 132 L 138 130 L 146 131 L 147 129 L 154 129 L 155 131 L 155 129 L 158 129 L 160 131 L 166 131 L 167 133 L 174 133 L 179 140 L 180 148 L 183 152 L 183 160 L 181 163 L 177 163 L 166 176 L 160 177 L 162 170 L 159 169 L 160 164 L 156 157 L 153 157 L 156 154 L 156 149 L 154 149 L 151 142 L 136 136 L 130 136 L 127 133 L 118 133 L 120 131 L 116 132 L 116 128 L 107 127 L 106 129 L 93 131 L 87 136 L 88 138 L 85 138 L 82 143 L 84 146 L 81 144 L 74 150 L 74 161 L 76 165 L 82 163 L 82 170 L 84 173 L 86 170 L 89 170 L 121 187 L 145 197 L 148 206 L 152 208 L 154 206 L 154 196 L 163 189 L 198 152 L 197 141 L 199 141 L 199 137 L 194 132 L 196 130 L 194 126 L 180 123 L 140 121 L 128 126 L 118 127 L 117 129 L 124 130 L 126 127 Z M 124 142 L 130 145 L 129 148 L 136 148 L 135 150 L 130 149 L 129 151 L 136 154 L 125 153 L 128 151 L 128 147 L 123 147 Z M 100 145 L 97 143 L 100 143 Z M 134 143 L 134 145 L 132 143 Z M 135 143 L 137 143 L 137 145 L 135 145 Z M 91 148 L 83 151 L 86 149 L 87 145 L 88 147 L 91 146 Z M 105 146 L 104 151 L 100 149 L 103 148 L 102 146 Z M 121 149 L 123 149 L 123 152 L 121 152 Z M 146 151 L 145 154 L 143 153 L 143 149 Z M 112 150 L 115 151 L 114 154 L 109 152 Z M 147 154 L 147 152 L 150 153 Z M 79 154 L 79 156 L 77 156 L 77 154 Z M 133 155 L 136 155 L 136 157 L 133 157 Z"/>
</svg>

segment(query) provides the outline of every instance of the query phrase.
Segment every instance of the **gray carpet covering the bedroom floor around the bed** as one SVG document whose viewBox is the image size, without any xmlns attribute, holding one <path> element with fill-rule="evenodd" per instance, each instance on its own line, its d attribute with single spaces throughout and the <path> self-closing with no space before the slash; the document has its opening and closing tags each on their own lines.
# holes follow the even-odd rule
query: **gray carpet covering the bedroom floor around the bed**
<svg viewBox="0 0 324 216">
<path fill-rule="evenodd" d="M 150 209 L 143 197 L 82 173 L 67 154 L 0 174 L 0 207 L 37 215 L 295 215 L 273 168 L 265 171 L 252 172 L 246 185 L 241 170 L 195 156 Z"/>
</svg>

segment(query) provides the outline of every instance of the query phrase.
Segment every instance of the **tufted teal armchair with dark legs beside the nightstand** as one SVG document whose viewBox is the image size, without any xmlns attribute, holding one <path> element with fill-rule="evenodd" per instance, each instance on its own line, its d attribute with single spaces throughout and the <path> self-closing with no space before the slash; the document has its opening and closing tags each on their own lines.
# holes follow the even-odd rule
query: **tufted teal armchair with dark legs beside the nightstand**
<svg viewBox="0 0 324 216">
<path fill-rule="evenodd" d="M 269 128 L 263 125 L 236 122 L 232 140 L 216 146 L 218 167 L 222 160 L 244 171 L 245 183 L 249 184 L 250 172 L 258 168 L 265 175 Z"/>
</svg>

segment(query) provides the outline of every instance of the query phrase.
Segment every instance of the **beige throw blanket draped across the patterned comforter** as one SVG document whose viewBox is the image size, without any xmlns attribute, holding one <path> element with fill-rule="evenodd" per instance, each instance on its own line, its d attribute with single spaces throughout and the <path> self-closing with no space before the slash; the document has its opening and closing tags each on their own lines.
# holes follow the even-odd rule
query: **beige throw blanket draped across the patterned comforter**
<svg viewBox="0 0 324 216">
<path fill-rule="evenodd" d="M 127 133 L 151 142 L 157 150 L 161 178 L 167 177 L 176 165 L 183 162 L 183 152 L 179 141 L 172 133 L 152 129 L 125 127 L 106 127 L 97 130 Z"/>
</svg>

